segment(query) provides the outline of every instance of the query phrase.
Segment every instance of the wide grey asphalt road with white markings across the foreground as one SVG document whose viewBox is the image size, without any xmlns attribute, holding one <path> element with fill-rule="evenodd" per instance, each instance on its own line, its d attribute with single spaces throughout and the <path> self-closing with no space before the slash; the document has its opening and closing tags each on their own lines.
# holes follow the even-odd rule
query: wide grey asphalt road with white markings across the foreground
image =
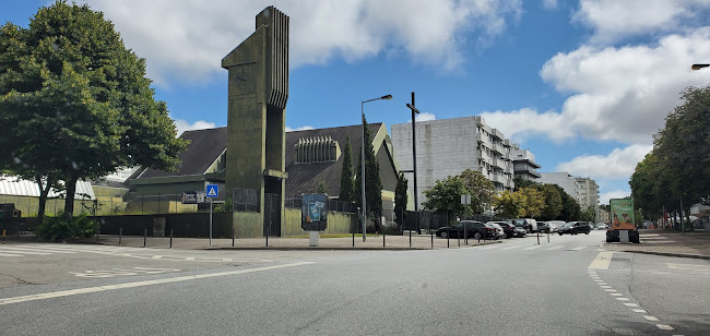
<svg viewBox="0 0 710 336">
<path fill-rule="evenodd" d="M 0 334 L 710 335 L 710 262 L 605 252 L 603 239 L 22 257 L 0 247 Z"/>
</svg>

